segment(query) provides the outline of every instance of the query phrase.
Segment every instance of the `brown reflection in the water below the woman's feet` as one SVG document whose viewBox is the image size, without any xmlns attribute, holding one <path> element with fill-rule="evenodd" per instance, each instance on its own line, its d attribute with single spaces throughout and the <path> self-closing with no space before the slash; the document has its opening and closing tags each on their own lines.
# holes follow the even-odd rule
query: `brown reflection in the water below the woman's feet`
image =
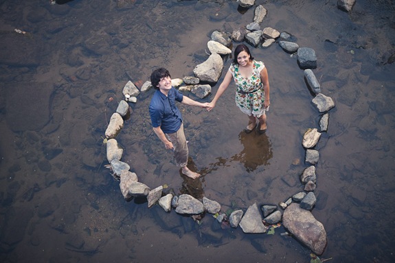
<svg viewBox="0 0 395 263">
<path fill-rule="evenodd" d="M 273 151 L 267 134 L 258 135 L 240 132 L 238 139 L 244 147 L 240 153 L 236 153 L 230 158 L 216 158 L 218 161 L 210 164 L 209 168 L 202 169 L 201 175 L 216 171 L 220 166 L 229 166 L 227 164 L 229 162 L 242 163 L 248 173 L 255 171 L 261 165 L 270 164 L 269 160 L 273 158 Z"/>
</svg>

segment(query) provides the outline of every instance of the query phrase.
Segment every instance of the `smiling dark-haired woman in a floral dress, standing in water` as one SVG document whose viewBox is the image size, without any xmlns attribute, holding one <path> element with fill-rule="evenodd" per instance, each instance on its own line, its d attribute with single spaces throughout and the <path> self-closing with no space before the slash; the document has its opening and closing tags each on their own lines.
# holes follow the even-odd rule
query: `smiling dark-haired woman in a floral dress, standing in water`
<svg viewBox="0 0 395 263">
<path fill-rule="evenodd" d="M 236 83 L 236 105 L 249 118 L 245 132 L 249 134 L 259 124 L 258 133 L 264 134 L 267 129 L 266 111 L 270 105 L 269 77 L 263 62 L 253 60 L 249 48 L 244 44 L 238 45 L 234 50 L 234 62 L 207 110 L 215 107 L 232 78 Z"/>
</svg>

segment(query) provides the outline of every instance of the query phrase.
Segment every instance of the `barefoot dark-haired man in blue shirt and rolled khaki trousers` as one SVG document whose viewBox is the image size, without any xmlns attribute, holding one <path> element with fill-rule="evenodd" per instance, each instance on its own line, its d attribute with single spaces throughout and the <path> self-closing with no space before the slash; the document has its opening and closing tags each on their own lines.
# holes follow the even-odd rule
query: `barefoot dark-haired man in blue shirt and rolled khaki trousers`
<svg viewBox="0 0 395 263">
<path fill-rule="evenodd" d="M 165 144 L 166 149 L 174 151 L 174 159 L 181 172 L 192 178 L 198 178 L 199 173 L 190 171 L 188 164 L 188 145 L 185 140 L 181 112 L 175 105 L 179 101 L 185 105 L 206 108 L 208 103 L 200 103 L 185 97 L 172 86 L 170 73 L 166 68 L 158 68 L 151 74 L 151 84 L 156 88 L 150 102 L 150 117 L 153 129 L 158 138 Z"/>
</svg>

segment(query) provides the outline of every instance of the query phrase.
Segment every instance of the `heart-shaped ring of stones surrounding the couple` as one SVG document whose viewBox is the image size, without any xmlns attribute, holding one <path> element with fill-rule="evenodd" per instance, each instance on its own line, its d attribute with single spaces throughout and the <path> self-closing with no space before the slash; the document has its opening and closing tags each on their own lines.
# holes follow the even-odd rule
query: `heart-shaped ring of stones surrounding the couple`
<svg viewBox="0 0 395 263">
<path fill-rule="evenodd" d="M 179 197 L 173 197 L 172 194 L 168 194 L 162 197 L 163 186 L 158 186 L 157 188 L 151 190 L 148 186 L 139 182 L 137 175 L 129 171 L 130 166 L 125 162 L 120 161 L 122 159 L 123 149 L 119 147 L 115 137 L 120 133 L 124 126 L 123 118 L 131 114 L 131 109 L 129 108 L 129 105 L 126 101 L 137 103 L 137 96 L 139 95 L 140 91 L 146 92 L 152 88 L 150 82 L 145 82 L 140 90 L 131 81 L 129 81 L 124 86 L 122 93 L 124 94 L 125 100 L 120 101 L 116 112 L 114 112 L 111 116 L 110 123 L 105 132 L 106 139 L 104 139 L 104 142 L 106 142 L 106 157 L 110 163 L 109 168 L 111 168 L 113 171 L 113 176 L 117 179 L 120 179 L 120 190 L 126 201 L 130 201 L 133 199 L 133 197 L 144 196 L 148 200 L 148 208 L 155 205 L 155 203 L 159 203 L 161 208 L 163 208 L 163 210 L 166 212 L 170 212 L 172 208 L 175 208 L 175 212 L 178 214 L 191 215 L 195 221 L 199 221 L 201 219 L 201 214 L 208 212 L 210 214 L 214 214 L 214 217 L 216 217 L 218 223 L 226 222 L 234 228 L 240 225 L 242 231 L 245 233 L 266 233 L 268 229 L 269 231 L 273 231 L 273 228 L 280 226 L 279 222 L 282 221 L 284 227 L 286 227 L 286 229 L 288 229 L 291 234 L 297 238 L 297 240 L 302 242 L 317 255 L 321 255 L 324 253 L 327 240 L 324 227 L 321 223 L 316 221 L 314 216 L 311 214 L 311 210 L 313 210 L 316 202 L 316 197 L 313 193 L 317 181 L 315 164 L 317 164 L 319 160 L 319 151 L 313 148 L 315 145 L 317 145 L 317 142 L 321 136 L 321 132 L 326 132 L 328 130 L 328 111 L 335 107 L 335 103 L 333 103 L 330 97 L 326 97 L 325 95 L 321 94 L 319 82 L 317 81 L 313 71 L 311 71 L 311 68 L 317 67 L 315 51 L 308 47 L 299 47 L 297 43 L 293 41 L 295 38 L 286 32 L 282 32 L 280 34 L 277 30 L 272 29 L 271 27 L 266 27 L 261 31 L 259 29 L 259 24 L 262 23 L 266 13 L 267 10 L 265 10 L 262 5 L 258 5 L 255 10 L 253 23 L 247 25 L 245 31 L 243 31 L 244 29 L 238 29 L 233 32 L 233 40 L 240 42 L 238 41 L 238 38 L 240 38 L 240 34 L 242 36 L 243 32 L 245 32 L 245 35 L 242 36 L 243 40 L 246 40 L 254 47 L 258 47 L 258 45 L 261 44 L 263 38 L 264 42 L 262 43 L 262 47 L 267 48 L 270 47 L 276 39 L 280 38 L 278 43 L 284 51 L 291 54 L 297 54 L 297 63 L 299 64 L 300 68 L 304 69 L 304 77 L 306 78 L 308 88 L 315 95 L 312 103 L 315 105 L 315 108 L 317 108 L 319 113 L 322 114 L 319 120 L 319 131 L 317 128 L 308 129 L 305 132 L 302 140 L 302 145 L 306 149 L 305 163 L 311 164 L 311 166 L 305 168 L 302 175 L 300 175 L 300 181 L 302 184 L 304 184 L 304 191 L 298 192 L 292 197 L 289 197 L 289 199 L 286 201 L 279 203 L 280 207 L 285 210 L 283 215 L 280 210 L 278 210 L 277 205 L 262 205 L 261 210 L 264 216 L 262 220 L 262 215 L 259 211 L 258 205 L 253 203 L 253 205 L 249 206 L 245 214 L 242 210 L 236 210 L 232 212 L 228 218 L 227 214 L 221 213 L 221 205 L 216 201 L 207 199 L 206 197 L 203 197 L 203 200 L 199 201 L 190 195 L 180 195 Z M 212 38 L 216 38 L 216 36 L 221 38 L 226 36 L 226 34 L 214 32 L 212 34 Z M 221 43 L 223 41 L 217 38 L 214 42 L 215 43 L 213 43 L 213 40 L 210 40 L 209 43 L 207 43 L 212 54 L 217 52 L 213 52 L 213 49 L 225 50 L 225 52 L 229 53 L 229 49 L 227 49 L 226 45 L 228 43 L 228 46 L 232 44 L 232 39 L 226 43 Z M 212 45 L 215 45 L 216 47 L 211 48 Z M 218 53 L 221 52 L 218 51 Z M 224 55 L 224 53 L 221 54 Z M 222 75 L 222 70 L 223 68 L 221 68 L 221 72 L 219 74 L 220 77 Z M 172 84 L 173 86 L 179 88 L 179 90 L 195 90 L 193 93 L 196 94 L 199 93 L 196 92 L 196 86 L 202 86 L 199 85 L 200 80 L 201 79 L 199 79 L 199 77 L 185 77 L 184 79 L 172 79 Z M 194 86 L 181 86 L 181 84 L 187 82 L 188 84 L 192 84 Z M 214 82 L 216 81 L 214 80 Z M 207 87 L 203 88 L 204 90 L 201 98 L 210 95 L 211 93 L 211 87 L 208 89 Z M 291 205 L 291 203 L 299 203 L 299 205 Z M 286 210 L 287 207 L 290 209 Z M 316 231 L 313 233 L 312 231 L 309 232 L 308 229 L 304 229 L 301 233 L 300 224 L 306 223 L 304 220 L 305 218 L 310 218 L 311 221 L 308 222 L 309 226 L 313 224 L 316 226 L 316 228 L 318 228 L 318 230 L 315 229 Z M 298 222 L 296 226 L 293 224 L 295 221 Z M 311 228 L 314 227 L 310 227 L 310 229 Z M 289 233 L 286 232 L 283 234 Z M 315 240 L 311 240 L 311 235 L 314 236 Z M 309 236 L 309 238 L 306 238 L 306 236 Z"/>
</svg>

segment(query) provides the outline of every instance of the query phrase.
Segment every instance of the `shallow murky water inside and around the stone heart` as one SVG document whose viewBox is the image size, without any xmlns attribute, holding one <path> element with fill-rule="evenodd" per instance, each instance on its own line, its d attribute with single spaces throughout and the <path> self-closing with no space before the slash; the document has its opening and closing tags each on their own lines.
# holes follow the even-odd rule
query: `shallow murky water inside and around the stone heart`
<svg viewBox="0 0 395 263">
<path fill-rule="evenodd" d="M 268 10 L 262 27 L 315 49 L 314 73 L 336 103 L 316 147 L 313 214 L 328 234 L 321 258 L 392 262 L 395 77 L 387 62 L 395 5 L 359 0 L 347 14 L 336 2 L 256 1 Z M 102 137 L 124 84 L 140 87 L 158 66 L 174 78 L 192 75 L 207 58 L 210 34 L 247 25 L 253 9 L 239 12 L 236 1 L 34 0 L 1 1 L 0 12 L 1 262 L 310 260 L 308 249 L 280 236 L 282 228 L 247 235 L 221 229 L 210 215 L 198 225 L 141 200 L 126 202 L 104 168 Z M 269 71 L 267 134 L 242 133 L 247 117 L 234 104 L 234 86 L 212 112 L 180 105 L 191 159 L 203 174 L 191 181 L 153 134 L 150 90 L 131 105 L 117 136 L 122 160 L 140 181 L 214 199 L 223 212 L 302 190 L 302 135 L 319 120 L 313 97 L 295 58 L 278 45 L 251 51 Z M 224 73 L 230 62 L 225 58 Z M 287 176 L 294 186 L 284 183 Z"/>
</svg>

